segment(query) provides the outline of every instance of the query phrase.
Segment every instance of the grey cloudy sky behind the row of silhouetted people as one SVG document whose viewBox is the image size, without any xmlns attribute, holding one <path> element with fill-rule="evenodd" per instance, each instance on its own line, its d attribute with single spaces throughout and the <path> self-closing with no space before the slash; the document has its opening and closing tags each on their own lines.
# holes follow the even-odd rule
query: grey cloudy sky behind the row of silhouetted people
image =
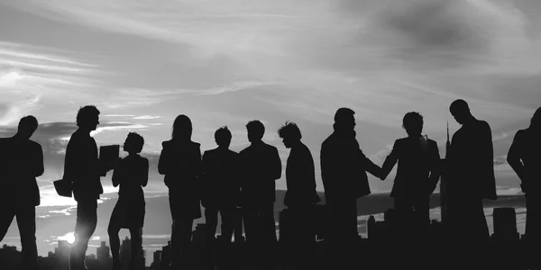
<svg viewBox="0 0 541 270">
<path fill-rule="evenodd" d="M 244 125 L 259 119 L 284 163 L 276 130 L 295 121 L 319 171 L 339 107 L 356 112 L 361 148 L 381 165 L 410 111 L 444 156 L 446 121 L 459 128 L 448 106 L 463 98 L 491 124 L 498 185 L 514 193 L 505 155 L 541 104 L 540 12 L 536 0 L 1 0 L 0 137 L 38 118 L 42 207 L 63 207 L 75 202 L 51 181 L 82 105 L 101 111 L 100 145 L 142 134 L 151 196 L 167 191 L 155 165 L 182 113 L 203 150 L 224 125 L 232 148 L 246 147 Z M 372 192 L 389 191 L 392 177 L 371 177 Z"/>
</svg>

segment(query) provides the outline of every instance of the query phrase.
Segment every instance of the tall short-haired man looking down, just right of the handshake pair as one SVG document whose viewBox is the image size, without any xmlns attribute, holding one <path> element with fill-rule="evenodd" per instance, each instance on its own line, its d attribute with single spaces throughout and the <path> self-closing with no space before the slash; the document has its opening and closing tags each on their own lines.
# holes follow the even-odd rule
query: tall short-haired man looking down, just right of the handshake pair
<svg viewBox="0 0 541 270">
<path fill-rule="evenodd" d="M 482 200 L 497 198 L 491 126 L 475 119 L 461 99 L 451 103 L 449 110 L 462 124 L 447 155 L 450 229 L 457 241 L 486 243 L 490 235 Z"/>
</svg>

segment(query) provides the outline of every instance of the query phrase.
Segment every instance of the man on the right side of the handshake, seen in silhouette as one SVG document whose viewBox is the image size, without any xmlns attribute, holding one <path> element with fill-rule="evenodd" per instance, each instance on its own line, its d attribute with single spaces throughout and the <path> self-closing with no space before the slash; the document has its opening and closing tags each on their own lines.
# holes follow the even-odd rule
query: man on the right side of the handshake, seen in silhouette
<svg viewBox="0 0 541 270">
<path fill-rule="evenodd" d="M 390 196 L 394 198 L 394 209 L 405 221 L 404 224 L 428 229 L 430 224 L 429 195 L 436 189 L 440 172 L 440 160 L 436 141 L 421 135 L 423 116 L 418 112 L 408 112 L 402 120 L 402 127 L 408 137 L 397 139 L 392 150 L 385 158 L 381 179 L 390 174 L 390 170 L 399 163 Z M 413 214 L 413 216 L 409 216 Z M 417 222 L 411 222 L 415 217 Z M 408 220 L 408 221 L 406 221 Z"/>
</svg>

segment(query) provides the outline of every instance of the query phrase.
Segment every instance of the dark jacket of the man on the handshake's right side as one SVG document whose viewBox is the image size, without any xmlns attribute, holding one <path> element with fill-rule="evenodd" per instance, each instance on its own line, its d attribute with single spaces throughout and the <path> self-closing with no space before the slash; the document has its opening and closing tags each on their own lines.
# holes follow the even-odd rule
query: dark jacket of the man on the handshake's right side
<svg viewBox="0 0 541 270">
<path fill-rule="evenodd" d="M 397 139 L 382 166 L 383 171 L 389 174 L 399 163 L 390 196 L 426 197 L 434 192 L 440 176 L 439 160 L 436 141 L 423 137 Z"/>
</svg>

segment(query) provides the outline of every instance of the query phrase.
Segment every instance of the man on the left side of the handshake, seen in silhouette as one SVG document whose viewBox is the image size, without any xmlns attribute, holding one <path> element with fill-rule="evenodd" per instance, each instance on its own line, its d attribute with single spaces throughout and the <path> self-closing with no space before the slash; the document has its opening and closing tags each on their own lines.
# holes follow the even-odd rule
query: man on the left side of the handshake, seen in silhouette
<svg viewBox="0 0 541 270">
<path fill-rule="evenodd" d="M 321 145 L 321 177 L 329 212 L 330 243 L 334 263 L 349 266 L 358 238 L 357 198 L 371 193 L 368 175 L 381 176 L 381 167 L 364 156 L 355 139 L 355 112 L 335 112 L 335 131 Z"/>
</svg>

